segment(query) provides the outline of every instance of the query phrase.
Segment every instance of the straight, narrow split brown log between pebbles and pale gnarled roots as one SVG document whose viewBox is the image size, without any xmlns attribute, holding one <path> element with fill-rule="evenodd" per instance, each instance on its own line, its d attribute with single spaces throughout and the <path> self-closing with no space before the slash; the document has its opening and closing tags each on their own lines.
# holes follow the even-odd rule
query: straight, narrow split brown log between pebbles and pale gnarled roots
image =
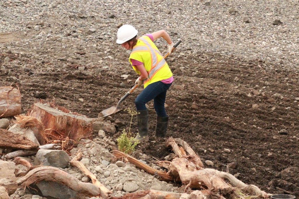
<svg viewBox="0 0 299 199">
<path fill-rule="evenodd" d="M 144 163 L 138 161 L 136 158 L 134 158 L 134 157 L 132 157 L 128 154 L 125 154 L 121 151 L 113 150 L 112 154 L 115 155 L 115 157 L 126 158 L 128 160 L 128 162 L 134 164 L 135 166 L 137 166 L 140 169 L 143 169 L 145 172 L 147 172 L 149 174 L 152 174 L 152 175 L 158 174 L 158 179 L 159 180 L 164 180 L 164 181 L 167 181 L 167 182 L 173 180 L 173 177 L 171 177 L 166 172 L 162 172 L 162 171 L 158 171 L 156 169 L 153 169 L 152 167 L 145 165 Z"/>
</svg>

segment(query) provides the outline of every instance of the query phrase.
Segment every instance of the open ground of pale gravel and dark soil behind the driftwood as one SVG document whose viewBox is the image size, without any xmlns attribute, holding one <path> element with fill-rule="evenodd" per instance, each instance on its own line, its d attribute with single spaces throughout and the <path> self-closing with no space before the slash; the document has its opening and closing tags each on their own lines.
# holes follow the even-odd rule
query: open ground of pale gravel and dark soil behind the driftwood
<svg viewBox="0 0 299 199">
<path fill-rule="evenodd" d="M 298 6 L 298 0 L 4 0 L 1 86 L 18 83 L 23 113 L 42 98 L 97 117 L 116 105 L 137 77 L 128 63 L 130 52 L 115 42 L 118 27 L 131 24 L 138 36 L 165 29 L 174 42 L 182 40 L 167 58 L 175 79 L 166 101 L 167 135 L 183 137 L 203 162 L 212 161 L 209 168 L 269 193 L 298 196 Z M 163 39 L 155 44 L 166 53 Z M 121 108 L 134 108 L 140 91 Z M 149 114 L 153 132 L 152 103 Z M 128 126 L 130 116 L 119 112 L 109 120 Z M 137 131 L 136 121 L 132 130 Z M 106 139 L 116 142 L 119 132 Z M 164 160 L 170 153 L 165 140 L 150 137 L 135 156 L 151 165 L 152 157 Z M 100 181 L 124 194 L 105 172 L 97 172 Z M 127 172 L 146 189 L 152 186 L 150 177 L 129 177 L 138 169 Z M 177 191 L 172 184 L 162 187 Z"/>
</svg>

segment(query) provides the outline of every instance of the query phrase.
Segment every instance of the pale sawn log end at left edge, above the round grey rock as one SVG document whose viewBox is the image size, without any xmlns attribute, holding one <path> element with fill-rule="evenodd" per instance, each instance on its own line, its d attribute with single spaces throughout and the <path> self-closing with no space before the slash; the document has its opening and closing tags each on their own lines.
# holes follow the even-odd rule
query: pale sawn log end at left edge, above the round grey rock
<svg viewBox="0 0 299 199">
<path fill-rule="evenodd" d="M 0 87 L 0 117 L 13 117 L 21 114 L 21 94 L 11 86 Z"/>
</svg>

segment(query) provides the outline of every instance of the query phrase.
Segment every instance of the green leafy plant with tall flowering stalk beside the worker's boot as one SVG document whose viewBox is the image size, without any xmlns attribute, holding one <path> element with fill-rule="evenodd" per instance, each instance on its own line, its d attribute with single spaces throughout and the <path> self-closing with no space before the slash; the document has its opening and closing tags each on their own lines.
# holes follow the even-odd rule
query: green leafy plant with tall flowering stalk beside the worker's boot
<svg viewBox="0 0 299 199">
<path fill-rule="evenodd" d="M 131 130 L 132 118 L 134 115 L 137 115 L 139 113 L 136 111 L 131 111 L 130 108 L 126 108 L 124 111 L 128 112 L 131 115 L 129 132 L 127 132 L 126 129 L 123 129 L 122 134 L 116 140 L 117 140 L 118 150 L 126 154 L 132 154 L 135 151 L 136 145 L 139 144 L 139 142 L 135 141 L 134 137 L 131 136 L 132 134 L 130 130 Z"/>
</svg>

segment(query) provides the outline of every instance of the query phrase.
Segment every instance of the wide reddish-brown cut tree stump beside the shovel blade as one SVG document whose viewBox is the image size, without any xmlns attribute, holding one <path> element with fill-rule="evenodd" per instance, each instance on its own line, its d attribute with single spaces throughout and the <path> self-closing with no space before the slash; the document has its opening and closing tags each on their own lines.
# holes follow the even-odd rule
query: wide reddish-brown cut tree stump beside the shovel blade
<svg viewBox="0 0 299 199">
<path fill-rule="evenodd" d="M 62 109 L 65 111 L 64 109 Z M 65 113 L 48 105 L 35 103 L 32 106 L 29 116 L 40 120 L 46 132 L 54 137 L 69 137 L 71 140 L 91 139 L 92 122 L 91 118 L 83 115 Z M 42 145 L 45 142 L 41 143 Z"/>
</svg>

